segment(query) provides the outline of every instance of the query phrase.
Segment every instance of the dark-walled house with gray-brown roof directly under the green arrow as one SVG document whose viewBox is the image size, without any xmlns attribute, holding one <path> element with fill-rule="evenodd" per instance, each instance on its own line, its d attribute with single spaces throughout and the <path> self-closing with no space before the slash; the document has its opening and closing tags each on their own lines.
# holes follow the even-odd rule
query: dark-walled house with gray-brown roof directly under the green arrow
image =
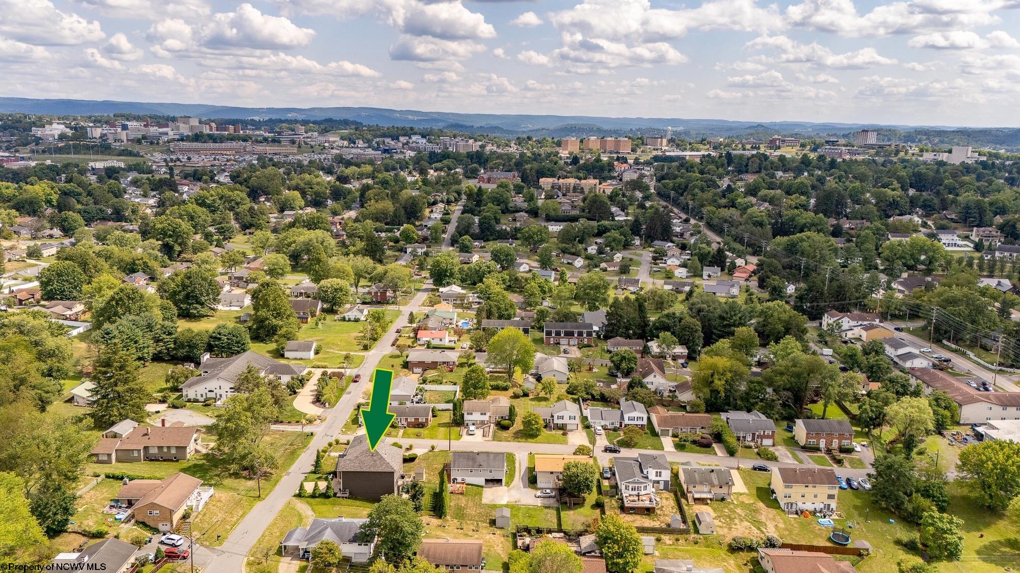
<svg viewBox="0 0 1020 573">
<path fill-rule="evenodd" d="M 368 438 L 359 434 L 337 460 L 337 477 L 333 488 L 340 497 L 378 501 L 382 496 L 397 494 L 397 479 L 404 467 L 400 448 L 379 444 L 368 449 Z"/>
</svg>

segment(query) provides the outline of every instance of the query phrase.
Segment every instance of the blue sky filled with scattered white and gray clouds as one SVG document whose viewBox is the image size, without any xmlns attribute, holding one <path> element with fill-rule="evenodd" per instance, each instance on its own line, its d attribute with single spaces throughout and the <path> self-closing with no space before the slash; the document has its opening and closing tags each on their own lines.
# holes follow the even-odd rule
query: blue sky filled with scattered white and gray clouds
<svg viewBox="0 0 1020 573">
<path fill-rule="evenodd" d="M 0 0 L 0 95 L 1020 124 L 1020 0 Z"/>
</svg>

